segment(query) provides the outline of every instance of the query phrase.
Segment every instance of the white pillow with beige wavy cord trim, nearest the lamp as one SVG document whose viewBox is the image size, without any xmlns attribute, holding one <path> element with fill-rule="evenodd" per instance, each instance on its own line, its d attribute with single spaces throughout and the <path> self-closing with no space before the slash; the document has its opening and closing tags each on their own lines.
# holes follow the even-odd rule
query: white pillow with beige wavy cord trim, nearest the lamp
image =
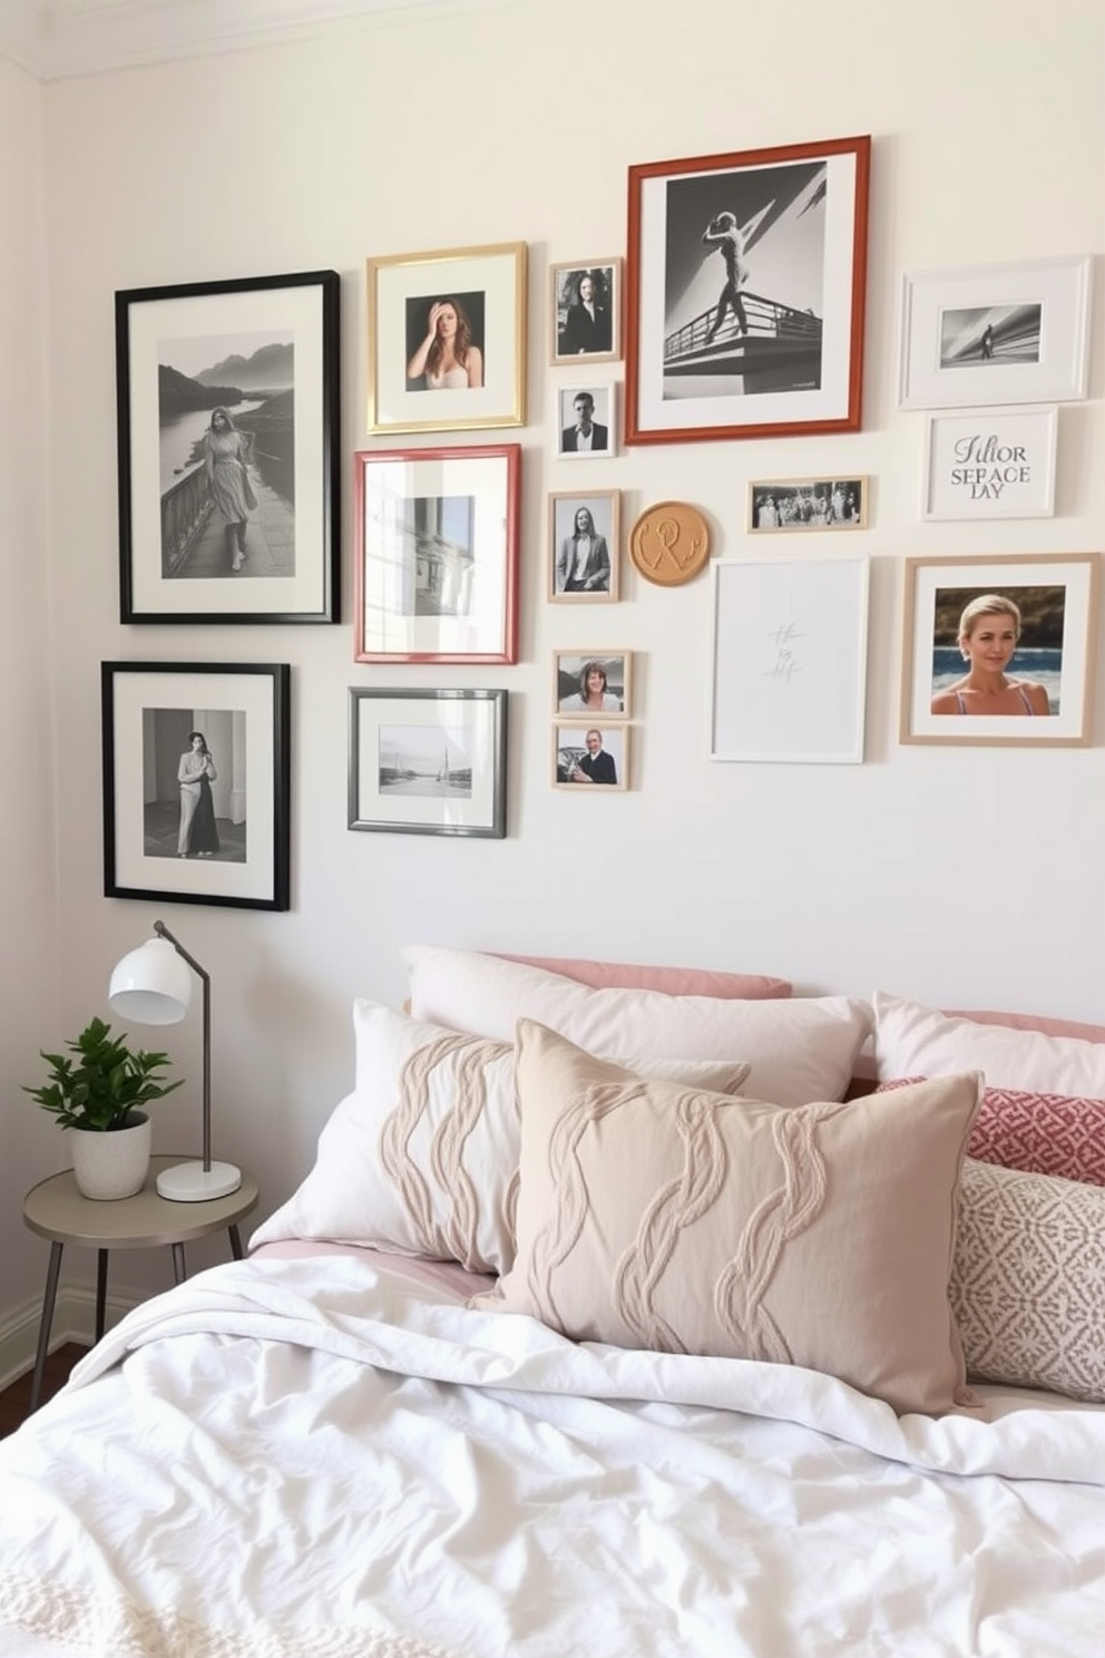
<svg viewBox="0 0 1105 1658">
<path fill-rule="evenodd" d="M 353 1003 L 353 1028 L 356 1086 L 323 1127 L 315 1167 L 250 1248 L 328 1239 L 505 1272 L 519 1171 L 514 1046 L 373 1001 Z M 641 1068 L 721 1093 L 749 1074 L 734 1061 Z"/>
</svg>

